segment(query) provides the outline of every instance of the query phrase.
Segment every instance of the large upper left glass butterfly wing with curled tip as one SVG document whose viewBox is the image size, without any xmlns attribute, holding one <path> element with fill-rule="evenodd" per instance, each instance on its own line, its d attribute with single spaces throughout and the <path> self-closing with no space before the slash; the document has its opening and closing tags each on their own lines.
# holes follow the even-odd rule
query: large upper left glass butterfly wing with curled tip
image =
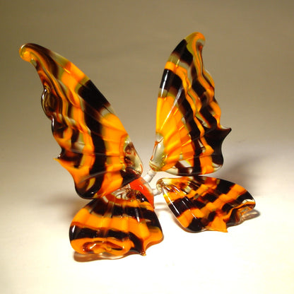
<svg viewBox="0 0 294 294">
<path fill-rule="evenodd" d="M 142 164 L 110 103 L 71 61 L 39 45 L 20 48 L 44 86 L 42 107 L 61 146 L 57 160 L 87 199 L 107 195 L 141 175 Z"/>
</svg>

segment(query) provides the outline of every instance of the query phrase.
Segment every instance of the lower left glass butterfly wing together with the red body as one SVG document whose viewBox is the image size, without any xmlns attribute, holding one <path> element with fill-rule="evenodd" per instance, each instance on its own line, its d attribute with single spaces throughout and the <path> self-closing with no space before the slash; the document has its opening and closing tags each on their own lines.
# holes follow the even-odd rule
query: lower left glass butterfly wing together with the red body
<svg viewBox="0 0 294 294">
<path fill-rule="evenodd" d="M 138 182 L 139 181 L 139 182 Z M 69 236 L 71 246 L 81 254 L 103 258 L 145 255 L 146 249 L 163 240 L 153 206 L 152 191 L 139 178 L 118 191 L 94 199 L 73 218 Z"/>
</svg>

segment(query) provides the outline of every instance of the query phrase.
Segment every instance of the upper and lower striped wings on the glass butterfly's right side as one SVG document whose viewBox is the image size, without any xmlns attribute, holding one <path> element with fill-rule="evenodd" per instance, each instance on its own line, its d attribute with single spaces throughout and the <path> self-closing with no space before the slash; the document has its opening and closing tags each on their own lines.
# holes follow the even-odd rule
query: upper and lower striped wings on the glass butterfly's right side
<svg viewBox="0 0 294 294">
<path fill-rule="evenodd" d="M 160 83 L 156 138 L 150 166 L 185 177 L 162 179 L 158 190 L 180 224 L 191 232 L 226 231 L 254 207 L 238 184 L 199 177 L 223 165 L 221 146 L 230 129 L 220 125 L 214 83 L 204 69 L 204 36 L 192 33 L 170 55 Z"/>
</svg>

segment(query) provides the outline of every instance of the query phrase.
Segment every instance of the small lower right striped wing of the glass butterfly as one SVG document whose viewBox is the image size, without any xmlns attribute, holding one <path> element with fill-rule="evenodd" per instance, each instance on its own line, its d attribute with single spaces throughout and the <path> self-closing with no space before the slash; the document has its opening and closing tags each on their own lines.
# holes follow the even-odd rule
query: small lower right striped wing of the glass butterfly
<svg viewBox="0 0 294 294">
<path fill-rule="evenodd" d="M 227 232 L 228 226 L 242 223 L 245 213 L 255 206 L 246 189 L 213 177 L 161 179 L 157 186 L 180 225 L 193 233 Z"/>
</svg>

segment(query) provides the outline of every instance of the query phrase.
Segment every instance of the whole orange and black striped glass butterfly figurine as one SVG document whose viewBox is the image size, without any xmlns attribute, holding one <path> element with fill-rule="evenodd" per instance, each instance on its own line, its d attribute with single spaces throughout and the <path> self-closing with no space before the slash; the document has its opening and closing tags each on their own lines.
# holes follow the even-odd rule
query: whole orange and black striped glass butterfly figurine
<svg viewBox="0 0 294 294">
<path fill-rule="evenodd" d="M 165 65 L 151 170 L 144 178 L 127 131 L 92 81 L 44 47 L 20 48 L 20 57 L 35 66 L 44 86 L 42 107 L 61 146 L 57 160 L 71 173 L 78 195 L 92 199 L 70 226 L 76 252 L 102 258 L 145 255 L 163 240 L 148 184 L 155 172 L 180 176 L 160 179 L 156 188 L 189 232 L 226 232 L 254 208 L 240 185 L 203 176 L 223 165 L 221 145 L 230 132 L 220 125 L 214 82 L 202 61 L 204 42 L 204 35 L 192 33 Z"/>
</svg>

